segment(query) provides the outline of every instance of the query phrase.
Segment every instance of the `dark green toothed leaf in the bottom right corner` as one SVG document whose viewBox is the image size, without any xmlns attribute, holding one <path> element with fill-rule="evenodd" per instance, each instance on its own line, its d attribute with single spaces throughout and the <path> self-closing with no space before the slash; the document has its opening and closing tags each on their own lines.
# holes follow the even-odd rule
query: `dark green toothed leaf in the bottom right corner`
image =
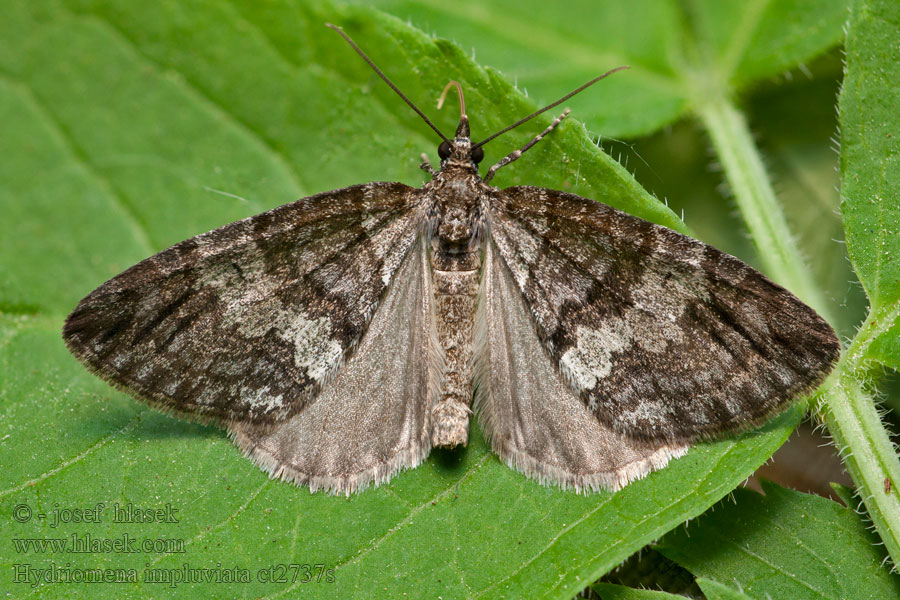
<svg viewBox="0 0 900 600">
<path fill-rule="evenodd" d="M 763 490 L 735 490 L 734 502 L 669 533 L 658 550 L 750 598 L 898 597 L 900 578 L 882 568 L 883 547 L 852 510 L 774 484 Z"/>
</svg>

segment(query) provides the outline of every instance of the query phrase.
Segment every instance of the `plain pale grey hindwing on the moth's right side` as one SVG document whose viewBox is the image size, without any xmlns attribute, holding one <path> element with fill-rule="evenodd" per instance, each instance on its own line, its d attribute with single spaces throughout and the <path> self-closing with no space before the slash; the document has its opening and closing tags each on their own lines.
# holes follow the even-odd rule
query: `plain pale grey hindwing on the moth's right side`
<svg viewBox="0 0 900 600">
<path fill-rule="evenodd" d="M 533 321 L 489 242 L 476 313 L 475 412 L 507 464 L 541 482 L 617 490 L 687 451 L 598 420 L 566 386 Z"/>
</svg>

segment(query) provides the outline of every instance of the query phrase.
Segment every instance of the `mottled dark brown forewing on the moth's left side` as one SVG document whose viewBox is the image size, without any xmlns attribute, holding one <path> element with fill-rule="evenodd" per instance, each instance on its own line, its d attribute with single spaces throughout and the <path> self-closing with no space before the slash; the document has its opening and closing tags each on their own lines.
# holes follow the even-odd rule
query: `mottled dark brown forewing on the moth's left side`
<svg viewBox="0 0 900 600">
<path fill-rule="evenodd" d="M 196 236 L 84 298 L 63 337 L 89 369 L 165 411 L 271 424 L 359 343 L 423 228 L 420 192 L 370 183 Z"/>
</svg>

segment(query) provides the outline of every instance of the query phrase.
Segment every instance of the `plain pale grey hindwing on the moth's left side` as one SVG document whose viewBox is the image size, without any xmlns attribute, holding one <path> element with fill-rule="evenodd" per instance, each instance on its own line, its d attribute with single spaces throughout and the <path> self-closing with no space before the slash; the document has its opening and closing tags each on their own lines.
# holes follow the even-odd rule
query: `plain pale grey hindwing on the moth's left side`
<svg viewBox="0 0 900 600">
<path fill-rule="evenodd" d="M 388 288 L 356 353 L 319 396 L 269 431 L 230 425 L 235 443 L 273 477 L 350 494 L 419 464 L 431 449 L 440 357 L 423 241 Z M 431 370 L 429 370 L 431 368 Z"/>
</svg>

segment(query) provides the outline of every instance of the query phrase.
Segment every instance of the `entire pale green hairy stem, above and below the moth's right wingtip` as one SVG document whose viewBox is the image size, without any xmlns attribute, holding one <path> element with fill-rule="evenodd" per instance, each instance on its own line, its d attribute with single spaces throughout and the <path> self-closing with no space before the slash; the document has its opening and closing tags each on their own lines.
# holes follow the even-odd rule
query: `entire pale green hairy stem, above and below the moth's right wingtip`
<svg viewBox="0 0 900 600">
<path fill-rule="evenodd" d="M 697 113 L 712 138 L 765 271 L 834 322 L 790 234 L 743 115 L 726 98 L 715 95 L 698 103 Z M 898 315 L 893 313 L 900 309 L 889 312 L 880 318 L 870 313 L 820 388 L 815 409 L 834 438 L 894 565 L 900 565 L 900 463 L 875 403 L 860 383 L 865 376 L 866 348 L 885 323 L 894 322 Z M 890 481 L 887 492 L 886 479 Z"/>
</svg>

